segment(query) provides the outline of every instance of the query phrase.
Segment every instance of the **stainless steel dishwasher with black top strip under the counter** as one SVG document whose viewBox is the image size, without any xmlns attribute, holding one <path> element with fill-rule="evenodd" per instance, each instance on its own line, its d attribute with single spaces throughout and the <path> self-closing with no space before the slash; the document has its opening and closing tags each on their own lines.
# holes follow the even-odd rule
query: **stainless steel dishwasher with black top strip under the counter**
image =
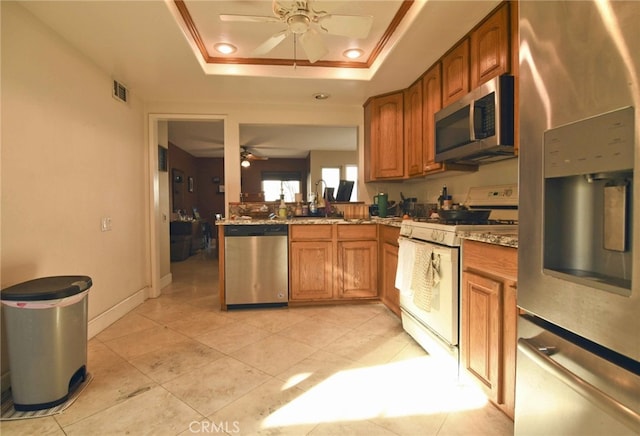
<svg viewBox="0 0 640 436">
<path fill-rule="evenodd" d="M 286 224 L 225 225 L 227 309 L 288 304 L 287 238 Z"/>
</svg>

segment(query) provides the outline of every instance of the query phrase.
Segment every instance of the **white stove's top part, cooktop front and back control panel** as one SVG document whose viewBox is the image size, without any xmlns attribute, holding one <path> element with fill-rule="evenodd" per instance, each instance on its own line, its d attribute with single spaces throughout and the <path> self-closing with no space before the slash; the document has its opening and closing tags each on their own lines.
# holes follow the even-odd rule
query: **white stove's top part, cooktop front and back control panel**
<svg viewBox="0 0 640 436">
<path fill-rule="evenodd" d="M 469 209 L 489 209 L 489 219 L 479 223 L 446 222 L 436 219 L 404 220 L 400 236 L 459 247 L 458 234 L 465 231 L 505 231 L 518 228 L 518 186 L 499 185 L 470 188 L 463 203 Z"/>
</svg>

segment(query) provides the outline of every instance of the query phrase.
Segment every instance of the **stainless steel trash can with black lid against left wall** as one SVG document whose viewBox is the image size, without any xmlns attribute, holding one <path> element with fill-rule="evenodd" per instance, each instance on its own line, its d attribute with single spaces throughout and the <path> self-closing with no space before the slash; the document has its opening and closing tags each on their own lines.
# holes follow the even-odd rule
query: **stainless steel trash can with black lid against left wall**
<svg viewBox="0 0 640 436">
<path fill-rule="evenodd" d="M 43 277 L 0 292 L 18 411 L 65 402 L 87 376 L 87 276 Z"/>
</svg>

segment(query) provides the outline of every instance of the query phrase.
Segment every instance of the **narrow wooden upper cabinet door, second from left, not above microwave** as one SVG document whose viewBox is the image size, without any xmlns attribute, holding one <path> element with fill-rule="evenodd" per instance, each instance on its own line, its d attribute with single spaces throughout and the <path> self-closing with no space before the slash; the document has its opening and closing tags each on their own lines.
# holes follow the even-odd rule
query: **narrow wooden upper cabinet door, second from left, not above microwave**
<svg viewBox="0 0 640 436">
<path fill-rule="evenodd" d="M 407 176 L 422 175 L 422 80 L 404 92 L 404 150 Z"/>
</svg>

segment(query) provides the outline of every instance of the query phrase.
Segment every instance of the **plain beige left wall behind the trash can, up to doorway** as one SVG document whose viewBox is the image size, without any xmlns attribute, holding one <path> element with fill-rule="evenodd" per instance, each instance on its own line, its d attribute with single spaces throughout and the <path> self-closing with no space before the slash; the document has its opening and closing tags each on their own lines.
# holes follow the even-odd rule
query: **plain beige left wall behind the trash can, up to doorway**
<svg viewBox="0 0 640 436">
<path fill-rule="evenodd" d="M 20 4 L 0 7 L 1 286 L 88 275 L 91 324 L 150 283 L 143 107 Z"/>
</svg>

